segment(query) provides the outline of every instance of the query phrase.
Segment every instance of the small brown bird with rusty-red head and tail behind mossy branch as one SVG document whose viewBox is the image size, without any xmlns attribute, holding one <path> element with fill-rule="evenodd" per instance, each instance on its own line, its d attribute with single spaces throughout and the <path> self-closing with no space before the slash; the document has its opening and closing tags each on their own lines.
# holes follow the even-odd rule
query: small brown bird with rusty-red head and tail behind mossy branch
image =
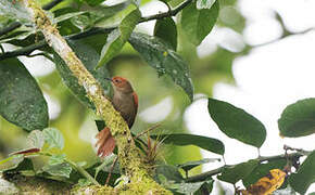
<svg viewBox="0 0 315 195">
<path fill-rule="evenodd" d="M 130 129 L 135 122 L 138 110 L 138 95 L 127 79 L 118 76 L 105 79 L 111 81 L 114 90 L 111 102 Z M 96 144 L 98 147 L 98 156 L 109 156 L 115 148 L 115 140 L 111 134 L 110 128 L 104 127 L 96 138 L 98 140 Z"/>
</svg>

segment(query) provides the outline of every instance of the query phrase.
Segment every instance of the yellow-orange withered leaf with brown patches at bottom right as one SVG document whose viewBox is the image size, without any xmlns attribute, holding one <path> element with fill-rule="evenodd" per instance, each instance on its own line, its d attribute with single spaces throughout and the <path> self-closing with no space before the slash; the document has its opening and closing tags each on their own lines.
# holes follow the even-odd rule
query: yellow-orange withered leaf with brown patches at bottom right
<svg viewBox="0 0 315 195">
<path fill-rule="evenodd" d="M 269 173 L 261 178 L 255 184 L 242 190 L 242 195 L 269 195 L 279 188 L 286 178 L 286 172 L 280 169 L 272 169 Z"/>
</svg>

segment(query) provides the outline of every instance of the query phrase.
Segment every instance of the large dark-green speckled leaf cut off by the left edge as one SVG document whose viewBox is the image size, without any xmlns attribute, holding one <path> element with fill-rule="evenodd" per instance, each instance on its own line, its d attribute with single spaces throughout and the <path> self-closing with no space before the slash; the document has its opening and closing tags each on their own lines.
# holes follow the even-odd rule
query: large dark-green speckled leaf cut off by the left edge
<svg viewBox="0 0 315 195">
<path fill-rule="evenodd" d="M 48 107 L 42 93 L 17 58 L 0 62 L 0 115 L 27 130 L 48 127 Z"/>
</svg>

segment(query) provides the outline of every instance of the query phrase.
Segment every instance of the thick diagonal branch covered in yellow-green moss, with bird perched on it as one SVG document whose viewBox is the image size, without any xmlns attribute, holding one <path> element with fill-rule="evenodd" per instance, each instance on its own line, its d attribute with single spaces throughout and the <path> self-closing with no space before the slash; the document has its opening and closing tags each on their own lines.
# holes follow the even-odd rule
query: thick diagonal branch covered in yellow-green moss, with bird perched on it
<svg viewBox="0 0 315 195">
<path fill-rule="evenodd" d="M 121 167 L 130 178 L 130 183 L 123 186 L 126 191 L 121 192 L 121 194 L 127 194 L 128 191 L 138 194 L 171 194 L 151 178 L 150 170 L 141 160 L 140 152 L 135 145 L 127 123 L 115 110 L 99 82 L 86 69 L 42 9 L 36 4 L 35 0 L 23 0 L 23 2 L 48 44 L 63 58 L 78 79 L 78 83 L 85 88 L 89 100 L 96 105 L 97 114 L 105 120 L 106 126 L 111 129 L 118 147 Z"/>
</svg>

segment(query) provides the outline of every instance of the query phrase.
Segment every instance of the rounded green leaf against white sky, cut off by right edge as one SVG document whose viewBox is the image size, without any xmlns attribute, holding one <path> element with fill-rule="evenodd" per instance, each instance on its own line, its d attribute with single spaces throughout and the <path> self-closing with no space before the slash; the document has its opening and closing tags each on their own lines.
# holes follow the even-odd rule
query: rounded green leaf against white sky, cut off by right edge
<svg viewBox="0 0 315 195">
<path fill-rule="evenodd" d="M 315 133 L 315 99 L 298 101 L 286 107 L 278 120 L 282 136 L 297 138 Z"/>
</svg>

